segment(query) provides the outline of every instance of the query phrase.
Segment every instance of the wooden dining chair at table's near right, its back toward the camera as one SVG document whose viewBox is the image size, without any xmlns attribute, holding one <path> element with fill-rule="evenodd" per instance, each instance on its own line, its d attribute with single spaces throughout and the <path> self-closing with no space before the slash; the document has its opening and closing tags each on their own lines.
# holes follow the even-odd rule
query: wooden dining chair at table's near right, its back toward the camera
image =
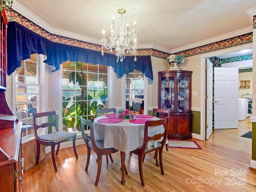
<svg viewBox="0 0 256 192">
<path fill-rule="evenodd" d="M 133 154 L 138 155 L 138 163 L 139 163 L 139 171 L 140 171 L 140 181 L 141 181 L 141 185 L 144 186 L 144 179 L 143 179 L 143 172 L 142 172 L 142 161 L 143 161 L 143 156 L 145 156 L 147 153 L 156 152 L 156 155 L 158 155 L 158 151 L 159 151 L 159 161 L 158 162 L 157 158 L 156 158 L 156 166 L 160 165 L 160 169 L 161 169 L 161 174 L 164 175 L 164 168 L 163 168 L 163 158 L 162 158 L 162 154 L 163 154 L 163 148 L 164 148 L 164 144 L 166 142 L 167 139 L 167 135 L 168 135 L 168 123 L 169 123 L 169 118 L 164 118 L 164 119 L 160 119 L 160 120 L 155 120 L 155 121 L 146 121 L 145 123 L 145 128 L 144 128 L 144 140 L 143 140 L 143 144 L 141 147 L 139 147 L 138 149 L 131 151 Z M 160 126 L 163 125 L 164 126 L 164 132 L 160 133 L 160 134 L 156 134 L 154 136 L 148 136 L 148 128 L 151 126 Z M 155 147 L 154 145 L 150 145 L 150 148 L 146 148 L 146 144 L 147 142 L 154 140 L 160 140 L 161 138 L 162 141 L 161 142 L 157 142 L 157 146 Z"/>
</svg>

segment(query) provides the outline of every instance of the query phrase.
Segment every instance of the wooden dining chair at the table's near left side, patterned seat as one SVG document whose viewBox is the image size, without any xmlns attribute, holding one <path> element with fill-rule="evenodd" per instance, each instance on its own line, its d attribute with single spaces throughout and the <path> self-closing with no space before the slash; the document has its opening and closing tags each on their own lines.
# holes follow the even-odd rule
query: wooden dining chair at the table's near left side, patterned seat
<svg viewBox="0 0 256 192">
<path fill-rule="evenodd" d="M 86 143 L 87 147 L 87 162 L 85 166 L 85 171 L 88 170 L 89 162 L 90 162 L 90 156 L 91 156 L 91 150 L 93 150 L 98 159 L 98 171 L 97 171 L 97 176 L 96 176 L 96 181 L 95 181 L 95 186 L 98 185 L 99 179 L 100 179 L 100 172 L 101 172 L 101 165 L 102 165 L 102 155 L 109 155 L 111 161 L 113 162 L 112 153 L 118 152 L 117 149 L 114 148 L 104 148 L 104 140 L 94 140 L 94 130 L 93 130 L 93 123 L 91 120 L 86 120 L 82 117 L 80 117 L 81 120 L 81 130 L 82 130 L 82 137 Z M 90 135 L 88 135 L 86 132 L 84 132 L 84 126 L 89 126 L 90 127 Z M 107 160 L 108 163 L 108 160 Z"/>
</svg>

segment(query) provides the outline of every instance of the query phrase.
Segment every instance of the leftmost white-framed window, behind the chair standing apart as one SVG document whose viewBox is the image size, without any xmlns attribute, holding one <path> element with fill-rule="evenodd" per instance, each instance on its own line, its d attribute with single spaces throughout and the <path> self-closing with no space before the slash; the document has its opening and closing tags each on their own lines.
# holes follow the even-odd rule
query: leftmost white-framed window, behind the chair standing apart
<svg viewBox="0 0 256 192">
<path fill-rule="evenodd" d="M 22 61 L 21 66 L 13 74 L 13 95 L 16 95 L 13 98 L 13 111 L 16 111 L 18 120 L 22 122 L 22 141 L 34 137 L 32 113 L 42 110 L 40 74 L 43 73 L 44 76 L 43 59 L 44 56 L 33 54 L 31 58 Z"/>
</svg>

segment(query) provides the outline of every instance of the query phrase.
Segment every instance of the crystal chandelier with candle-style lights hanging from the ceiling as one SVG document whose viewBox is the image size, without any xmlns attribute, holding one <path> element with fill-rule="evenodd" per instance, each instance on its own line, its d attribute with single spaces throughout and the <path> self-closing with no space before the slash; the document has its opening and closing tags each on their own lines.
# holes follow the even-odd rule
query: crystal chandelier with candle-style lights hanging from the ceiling
<svg viewBox="0 0 256 192">
<path fill-rule="evenodd" d="M 110 52 L 112 52 L 112 49 L 114 48 L 114 46 L 116 46 L 115 50 L 116 50 L 116 62 L 118 62 L 118 60 L 120 59 L 120 61 L 122 62 L 125 58 L 125 51 L 127 53 L 131 53 L 133 54 L 134 57 L 134 61 L 137 60 L 136 55 L 137 55 L 137 42 L 136 42 L 136 38 L 137 38 L 137 33 L 138 33 L 138 29 L 136 29 L 136 21 L 134 21 L 134 29 L 132 29 L 132 32 L 129 31 L 129 24 L 125 22 L 125 18 L 123 18 L 123 14 L 126 11 L 124 9 L 118 9 L 118 13 L 121 14 L 121 17 L 118 19 L 119 23 L 118 25 L 115 24 L 115 18 L 113 18 L 113 24 L 110 25 L 111 28 L 111 36 L 109 37 L 110 39 L 110 44 L 108 44 L 108 40 L 105 39 L 105 30 L 103 29 L 102 33 L 103 33 L 103 38 L 100 39 L 100 41 L 102 42 L 102 56 L 104 55 L 103 49 L 110 49 Z M 132 47 L 130 47 L 130 41 L 134 40 L 134 44 Z"/>
</svg>

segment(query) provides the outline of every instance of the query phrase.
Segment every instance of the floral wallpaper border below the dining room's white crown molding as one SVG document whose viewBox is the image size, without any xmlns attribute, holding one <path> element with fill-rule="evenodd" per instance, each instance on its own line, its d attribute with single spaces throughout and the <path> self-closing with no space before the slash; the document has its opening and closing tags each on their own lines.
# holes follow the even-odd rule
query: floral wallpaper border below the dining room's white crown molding
<svg viewBox="0 0 256 192">
<path fill-rule="evenodd" d="M 101 51 L 101 49 L 102 49 L 101 45 L 98 45 L 98 44 L 84 42 L 81 40 L 76 40 L 73 38 L 59 36 L 56 34 L 51 34 L 48 31 L 41 28 L 40 26 L 33 23 L 32 21 L 30 21 L 29 19 L 22 16 L 18 12 L 14 11 L 12 8 L 6 7 L 6 16 L 7 16 L 8 22 L 11 22 L 11 21 L 18 22 L 22 26 L 25 26 L 26 28 L 32 30 L 33 32 L 35 32 L 53 42 L 63 43 L 63 44 L 67 44 L 67 45 L 77 46 L 77 47 L 86 48 L 86 49 L 90 49 L 90 50 L 96 50 L 96 51 Z M 256 28 L 256 16 L 254 16 L 253 27 Z M 221 50 L 221 49 L 225 49 L 225 48 L 230 48 L 230 47 L 234 47 L 234 46 L 239 46 L 242 44 L 248 44 L 251 42 L 252 42 L 252 32 L 243 34 L 240 36 L 228 38 L 225 40 L 221 40 L 218 42 L 214 42 L 211 44 L 206 44 L 204 46 L 199 46 L 196 48 L 184 50 L 184 51 L 178 52 L 176 54 L 182 54 L 184 57 L 189 57 L 189 56 L 195 56 L 198 54 L 204 54 L 207 52 L 212 52 L 212 51 Z M 110 50 L 104 50 L 104 52 L 111 53 Z M 138 56 L 150 55 L 150 56 L 154 56 L 154 57 L 162 58 L 162 59 L 166 59 L 170 55 L 169 53 L 155 50 L 152 48 L 138 49 L 137 52 L 138 52 Z"/>
</svg>

